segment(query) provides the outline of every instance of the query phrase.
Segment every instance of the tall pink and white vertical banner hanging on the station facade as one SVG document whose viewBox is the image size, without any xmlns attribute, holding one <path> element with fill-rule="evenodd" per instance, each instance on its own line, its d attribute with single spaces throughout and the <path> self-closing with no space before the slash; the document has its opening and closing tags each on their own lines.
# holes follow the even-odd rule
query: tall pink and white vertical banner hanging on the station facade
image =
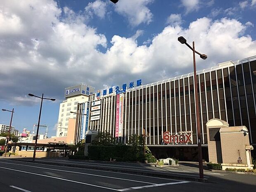
<svg viewBox="0 0 256 192">
<path fill-rule="evenodd" d="M 116 95 L 116 137 L 123 132 L 123 93 Z"/>
</svg>

